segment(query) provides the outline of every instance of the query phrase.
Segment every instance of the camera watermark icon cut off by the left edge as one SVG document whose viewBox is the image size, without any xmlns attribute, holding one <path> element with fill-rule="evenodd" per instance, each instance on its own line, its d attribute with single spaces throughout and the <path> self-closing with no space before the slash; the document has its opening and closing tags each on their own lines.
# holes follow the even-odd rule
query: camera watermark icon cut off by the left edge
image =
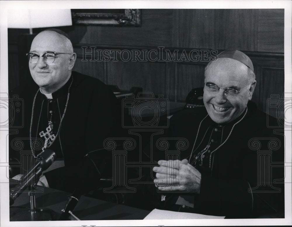
<svg viewBox="0 0 292 227">
<path fill-rule="evenodd" d="M 1 128 L 22 128 L 24 122 L 23 116 L 23 99 L 14 95 L 9 98 L 7 93 L 0 93 L 0 114 L 6 116 L 5 112 L 8 110 L 8 116 L 1 119 Z"/>
</svg>

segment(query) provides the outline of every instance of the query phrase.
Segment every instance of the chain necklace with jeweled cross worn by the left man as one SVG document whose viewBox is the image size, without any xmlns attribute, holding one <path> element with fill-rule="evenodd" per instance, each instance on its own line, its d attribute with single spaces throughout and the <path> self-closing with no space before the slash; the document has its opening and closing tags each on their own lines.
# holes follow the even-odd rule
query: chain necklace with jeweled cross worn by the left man
<svg viewBox="0 0 292 227">
<path fill-rule="evenodd" d="M 48 121 L 48 127 L 46 128 L 46 132 L 41 131 L 39 133 L 39 135 L 41 137 L 44 137 L 45 138 L 45 142 L 44 142 L 44 146 L 42 148 L 42 152 L 35 156 L 34 149 L 32 148 L 32 120 L 33 120 L 33 117 L 34 117 L 34 104 L 35 104 L 36 96 L 39 93 L 40 89 L 38 89 L 36 91 L 36 94 L 34 96 L 34 101 L 32 103 L 32 118 L 30 119 L 30 128 L 29 128 L 29 144 L 30 144 L 30 149 L 32 151 L 32 154 L 33 154 L 33 156 L 35 158 L 38 158 L 39 155 L 41 155 L 42 153 L 44 153 L 44 151 L 46 150 L 46 148 L 49 148 L 53 144 L 53 142 L 56 140 L 56 138 L 58 137 L 58 134 L 60 132 L 60 128 L 61 128 L 61 125 L 62 125 L 62 121 L 63 121 L 63 118 L 65 116 L 66 110 L 67 110 L 69 96 L 70 96 L 69 91 L 70 91 L 70 87 L 72 85 L 72 82 L 73 82 L 73 76 L 72 76 L 72 81 L 71 81 L 71 83 L 69 85 L 69 88 L 68 88 L 67 101 L 66 101 L 66 105 L 65 105 L 65 109 L 64 109 L 63 115 L 62 115 L 61 120 L 60 120 L 60 124 L 59 124 L 59 127 L 58 127 L 57 134 L 56 135 L 53 134 L 53 122 L 52 122 L 52 115 L 51 115 L 51 119 Z"/>
</svg>

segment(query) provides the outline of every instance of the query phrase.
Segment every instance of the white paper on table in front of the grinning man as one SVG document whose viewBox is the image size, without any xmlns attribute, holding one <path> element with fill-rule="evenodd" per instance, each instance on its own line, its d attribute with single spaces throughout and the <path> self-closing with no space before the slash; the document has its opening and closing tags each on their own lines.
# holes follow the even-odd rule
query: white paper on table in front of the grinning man
<svg viewBox="0 0 292 227">
<path fill-rule="evenodd" d="M 211 216 L 205 214 L 194 214 L 186 212 L 175 212 L 168 210 L 152 210 L 144 220 L 157 220 L 157 219 L 224 219 L 225 216 Z"/>
</svg>

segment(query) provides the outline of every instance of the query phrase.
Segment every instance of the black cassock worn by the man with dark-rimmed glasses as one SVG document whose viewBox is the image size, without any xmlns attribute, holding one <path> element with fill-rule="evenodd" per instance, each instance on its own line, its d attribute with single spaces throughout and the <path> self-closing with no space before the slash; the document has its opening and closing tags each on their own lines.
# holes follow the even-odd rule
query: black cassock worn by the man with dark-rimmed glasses
<svg viewBox="0 0 292 227">
<path fill-rule="evenodd" d="M 71 86 L 70 86 L 71 85 Z M 70 87 L 70 89 L 69 89 Z M 23 127 L 12 128 L 9 137 L 9 158 L 20 160 L 21 153 L 32 154 L 30 148 L 30 125 L 33 100 L 39 87 L 31 80 L 27 84 L 13 89 L 10 97 L 18 95 L 23 100 Z M 69 89 L 69 100 L 67 103 Z M 103 141 L 117 136 L 121 113 L 116 97 L 100 80 L 72 72 L 68 82 L 48 99 L 40 91 L 37 93 L 31 127 L 32 145 L 35 155 L 42 150 L 48 122 L 51 120 L 56 135 L 60 120 L 59 134 L 49 149 L 57 154 L 57 160 L 64 160 L 65 167 L 45 173 L 49 186 L 66 191 L 76 187 L 94 188 L 100 177 L 110 177 L 112 153 L 103 149 Z M 21 125 L 21 118 L 14 119 L 14 124 Z M 15 129 L 18 130 L 15 132 Z M 23 147 L 15 149 L 16 141 L 22 141 Z M 84 158 L 87 153 L 94 153 L 94 165 Z M 24 163 L 22 163 L 23 167 Z M 27 164 L 26 164 L 27 165 Z M 17 171 L 13 172 L 15 175 Z"/>
</svg>

